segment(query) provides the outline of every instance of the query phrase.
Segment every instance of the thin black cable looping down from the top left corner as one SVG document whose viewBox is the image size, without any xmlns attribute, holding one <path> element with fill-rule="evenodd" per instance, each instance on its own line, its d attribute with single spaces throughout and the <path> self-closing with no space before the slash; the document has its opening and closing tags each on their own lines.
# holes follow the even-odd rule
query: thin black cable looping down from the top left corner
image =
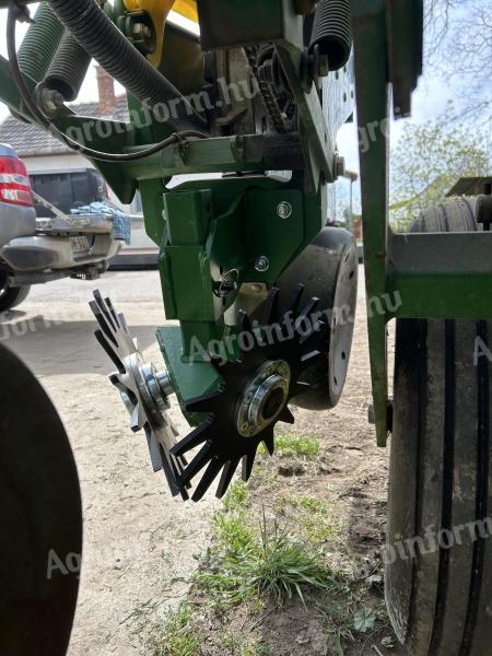
<svg viewBox="0 0 492 656">
<path fill-rule="evenodd" d="M 181 132 L 176 132 L 167 139 L 164 139 L 164 141 L 160 141 L 159 143 L 155 143 L 154 145 L 145 148 L 141 151 L 124 154 L 105 153 L 93 150 L 92 148 L 86 148 L 85 145 L 78 143 L 77 141 L 65 134 L 61 130 L 59 130 L 54 124 L 51 124 L 46 118 L 46 116 L 42 114 L 36 103 L 31 97 L 31 93 L 26 86 L 22 71 L 19 66 L 17 51 L 15 46 L 15 26 L 17 16 L 19 7 L 16 4 L 11 4 L 9 7 L 9 12 L 7 16 L 7 51 L 9 56 L 9 69 L 12 75 L 12 80 L 15 82 L 15 86 L 17 87 L 19 94 L 23 103 L 25 104 L 27 110 L 31 113 L 32 117 L 39 124 L 39 126 L 48 130 L 48 132 L 52 137 L 59 139 L 72 150 L 75 150 L 77 152 L 79 152 L 82 155 L 85 155 L 86 157 L 98 160 L 101 162 L 122 163 L 143 160 L 144 157 L 149 157 L 150 155 L 161 152 L 169 145 L 183 142 L 188 138 L 207 139 L 208 134 L 204 134 L 203 132 L 198 132 L 197 130 L 185 130 Z"/>
</svg>

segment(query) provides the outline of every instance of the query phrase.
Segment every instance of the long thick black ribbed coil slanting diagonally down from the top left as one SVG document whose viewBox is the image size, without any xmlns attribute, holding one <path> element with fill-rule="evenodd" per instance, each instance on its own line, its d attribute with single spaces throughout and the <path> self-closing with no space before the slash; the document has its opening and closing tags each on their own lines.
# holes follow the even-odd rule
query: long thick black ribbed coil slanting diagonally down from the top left
<svg viewBox="0 0 492 656">
<path fill-rule="evenodd" d="M 189 101 L 128 42 L 95 0 L 49 0 L 49 4 L 112 78 L 149 107 L 165 105 L 174 129 L 207 129 Z"/>
</svg>

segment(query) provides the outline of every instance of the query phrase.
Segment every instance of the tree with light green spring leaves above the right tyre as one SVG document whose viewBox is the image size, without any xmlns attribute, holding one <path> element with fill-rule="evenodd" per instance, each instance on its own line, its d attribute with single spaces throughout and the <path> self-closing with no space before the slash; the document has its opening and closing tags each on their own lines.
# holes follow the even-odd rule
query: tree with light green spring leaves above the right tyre
<svg viewBox="0 0 492 656">
<path fill-rule="evenodd" d="M 408 124 L 391 152 L 390 216 L 400 227 L 443 200 L 460 177 L 491 173 L 485 140 L 448 116 Z"/>
</svg>

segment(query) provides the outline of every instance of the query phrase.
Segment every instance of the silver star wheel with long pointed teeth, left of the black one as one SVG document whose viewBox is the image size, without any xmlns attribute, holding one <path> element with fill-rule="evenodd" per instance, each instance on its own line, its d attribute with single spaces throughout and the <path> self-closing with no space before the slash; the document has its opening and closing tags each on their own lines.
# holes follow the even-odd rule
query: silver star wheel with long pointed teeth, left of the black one
<svg viewBox="0 0 492 656">
<path fill-rule="evenodd" d="M 164 471 L 172 494 L 188 499 L 186 485 L 177 483 L 187 466 L 186 458 L 171 453 L 177 431 L 167 414 L 172 388 L 166 372 L 145 364 L 124 315 L 115 312 L 109 298 L 103 298 L 96 290 L 90 306 L 99 325 L 94 335 L 118 370 L 109 379 L 130 414 L 131 430 L 144 431 L 153 470 Z"/>
</svg>

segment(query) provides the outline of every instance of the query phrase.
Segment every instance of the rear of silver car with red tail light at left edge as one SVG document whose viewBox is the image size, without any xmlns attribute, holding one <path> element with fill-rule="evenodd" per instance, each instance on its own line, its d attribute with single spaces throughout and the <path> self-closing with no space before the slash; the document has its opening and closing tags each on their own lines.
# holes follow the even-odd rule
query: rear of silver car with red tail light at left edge
<svg viewBox="0 0 492 656">
<path fill-rule="evenodd" d="M 33 284 L 98 278 L 124 243 L 110 212 L 66 214 L 38 195 L 36 202 L 45 216 L 36 215 L 24 163 L 0 144 L 0 312 L 22 303 Z"/>
</svg>

